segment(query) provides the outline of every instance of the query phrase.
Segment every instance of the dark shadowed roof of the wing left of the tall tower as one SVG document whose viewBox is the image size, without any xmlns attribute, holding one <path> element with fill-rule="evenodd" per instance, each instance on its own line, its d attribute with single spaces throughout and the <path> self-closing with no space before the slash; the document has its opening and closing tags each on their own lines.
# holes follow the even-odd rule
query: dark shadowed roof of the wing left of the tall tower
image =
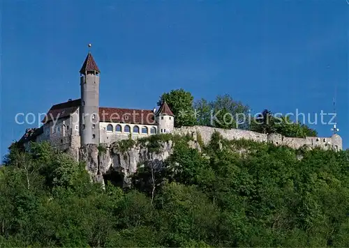
<svg viewBox="0 0 349 248">
<path fill-rule="evenodd" d="M 70 100 L 68 102 L 62 102 L 59 104 L 55 104 L 51 107 L 51 109 L 47 112 L 45 118 L 42 123 L 47 123 L 48 121 L 52 121 L 52 119 L 62 118 L 66 116 L 70 116 L 73 114 L 78 107 L 80 107 L 81 100 Z"/>
</svg>

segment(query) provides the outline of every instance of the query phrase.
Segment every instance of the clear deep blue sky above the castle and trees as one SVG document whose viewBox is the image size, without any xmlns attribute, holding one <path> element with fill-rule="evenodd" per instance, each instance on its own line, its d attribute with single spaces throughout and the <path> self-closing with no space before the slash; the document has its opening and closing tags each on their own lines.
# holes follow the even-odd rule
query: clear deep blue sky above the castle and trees
<svg viewBox="0 0 349 248">
<path fill-rule="evenodd" d="M 92 43 L 100 105 L 152 109 L 184 88 L 228 93 L 253 111 L 332 112 L 348 130 L 348 10 L 343 1 L 10 1 L 1 3 L 1 157 L 27 127 L 17 113 L 80 98 Z M 329 125 L 312 125 L 330 136 Z"/>
</svg>

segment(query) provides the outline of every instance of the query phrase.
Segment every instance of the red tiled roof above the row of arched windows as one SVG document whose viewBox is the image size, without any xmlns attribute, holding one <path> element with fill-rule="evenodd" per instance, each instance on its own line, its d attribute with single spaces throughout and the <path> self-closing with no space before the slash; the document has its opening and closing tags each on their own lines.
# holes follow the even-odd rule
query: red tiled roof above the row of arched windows
<svg viewBox="0 0 349 248">
<path fill-rule="evenodd" d="M 145 109 L 99 108 L 99 121 L 156 125 L 154 112 Z"/>
</svg>

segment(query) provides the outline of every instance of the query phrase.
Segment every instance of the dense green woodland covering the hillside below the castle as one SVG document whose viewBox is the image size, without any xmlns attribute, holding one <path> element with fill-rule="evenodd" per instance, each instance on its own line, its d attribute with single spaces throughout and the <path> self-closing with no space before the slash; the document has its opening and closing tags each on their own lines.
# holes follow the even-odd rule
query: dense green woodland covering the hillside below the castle
<svg viewBox="0 0 349 248">
<path fill-rule="evenodd" d="M 130 190 L 91 183 L 83 164 L 45 143 L 10 151 L 0 169 L 0 246 L 349 246 L 348 150 L 216 132 L 200 153 L 190 139 L 137 141 L 155 149 L 172 140 L 174 150 L 165 164 L 144 163 Z"/>
</svg>

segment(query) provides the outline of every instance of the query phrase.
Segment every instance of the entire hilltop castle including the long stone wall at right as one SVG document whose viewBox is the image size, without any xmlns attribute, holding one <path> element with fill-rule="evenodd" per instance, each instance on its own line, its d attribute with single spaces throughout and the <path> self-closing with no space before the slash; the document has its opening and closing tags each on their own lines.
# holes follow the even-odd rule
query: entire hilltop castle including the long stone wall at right
<svg viewBox="0 0 349 248">
<path fill-rule="evenodd" d="M 220 132 L 226 139 L 251 139 L 272 142 L 291 148 L 308 146 L 325 150 L 342 150 L 341 137 L 290 138 L 280 134 L 261 134 L 248 130 L 224 130 L 215 127 L 174 127 L 174 114 L 166 102 L 156 110 L 119 109 L 99 106 L 100 73 L 91 52 L 80 69 L 81 98 L 53 105 L 39 128 L 27 129 L 18 141 L 27 148 L 29 141 L 49 141 L 59 150 L 69 150 L 79 157 L 79 149 L 87 145 L 112 144 L 121 139 L 138 139 L 152 134 L 190 134 L 194 140 L 200 134 L 208 144 L 213 132 Z"/>
</svg>

